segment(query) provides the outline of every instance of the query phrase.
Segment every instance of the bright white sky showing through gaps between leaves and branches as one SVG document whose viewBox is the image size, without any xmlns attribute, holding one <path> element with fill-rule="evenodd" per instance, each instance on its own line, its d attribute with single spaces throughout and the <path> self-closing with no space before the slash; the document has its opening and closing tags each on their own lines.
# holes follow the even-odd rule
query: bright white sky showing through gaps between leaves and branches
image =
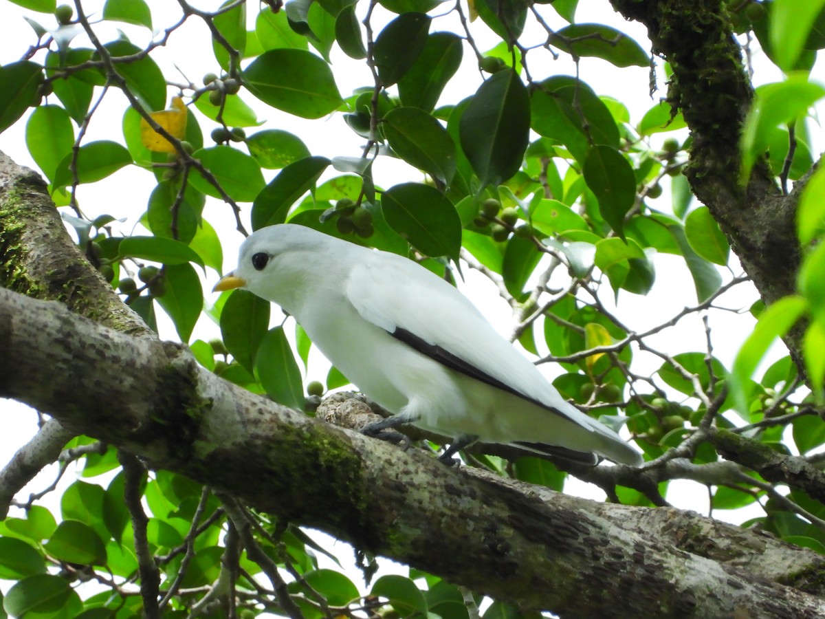
<svg viewBox="0 0 825 619">
<path fill-rule="evenodd" d="M 149 5 L 153 12 L 153 24 L 156 28 L 164 27 L 177 21 L 180 16 L 177 2 L 169 2 L 169 0 L 149 0 Z M 196 6 L 205 9 L 214 9 L 219 6 L 219 2 L 193 2 Z M 253 3 L 257 5 L 257 3 Z M 86 7 L 87 15 L 92 19 L 97 15 L 101 15 L 103 2 L 83 2 Z M 446 2 L 445 12 L 448 7 L 452 7 L 452 2 Z M 365 2 L 359 3 L 361 12 L 365 11 Z M 249 11 L 254 13 L 254 9 Z M 0 64 L 7 64 L 9 62 L 20 59 L 21 54 L 25 52 L 29 45 L 35 42 L 35 35 L 30 26 L 22 20 L 22 15 L 34 18 L 40 24 L 47 28 L 53 28 L 56 24 L 54 17 L 47 14 L 35 14 L 26 12 L 23 9 L 11 5 L 8 2 L 0 4 Z M 546 7 L 544 15 L 549 17 L 549 25 L 554 28 L 560 28 L 565 25 L 555 12 Z M 254 16 L 250 16 L 250 29 L 254 28 Z M 375 16 L 375 31 L 380 30 L 380 24 L 391 17 L 389 13 L 379 10 Z M 530 20 L 528 20 L 530 21 Z M 642 26 L 635 22 L 625 21 L 618 13 L 615 13 L 606 0 L 588 0 L 588 2 L 580 2 L 577 11 L 578 22 L 600 22 L 609 26 L 625 31 L 627 34 L 633 36 L 639 41 L 643 48 L 647 47 L 646 32 Z M 531 23 L 531 22 L 530 22 Z M 433 21 L 433 30 L 454 30 L 458 24 L 455 16 L 446 18 L 438 18 Z M 119 27 L 130 37 L 137 45 L 144 45 L 148 41 L 148 31 L 138 26 L 129 26 L 127 24 L 120 24 Z M 544 35 L 538 29 L 531 35 L 533 42 L 544 40 Z M 115 26 L 104 26 L 98 30 L 98 35 L 101 40 L 115 39 L 117 31 Z M 497 45 L 499 40 L 488 30 L 487 26 L 481 20 L 475 21 L 471 26 L 471 31 L 476 39 L 479 50 L 486 51 Z M 188 80 L 200 85 L 200 79 L 207 72 L 219 73 L 219 65 L 214 60 L 210 52 L 208 44 L 209 33 L 203 22 L 197 18 L 191 18 L 186 22 L 179 31 L 172 34 L 169 44 L 166 48 L 160 48 L 152 54 L 158 64 L 163 69 L 167 78 L 172 80 L 185 81 L 180 78 L 180 74 L 186 76 Z M 82 43 L 82 36 L 78 37 L 75 44 Z M 88 43 L 83 43 L 88 45 Z M 90 46 L 90 45 L 88 45 Z M 311 48 L 310 48 L 311 49 Z M 535 58 L 532 57 L 535 54 Z M 558 60 L 552 60 L 546 52 L 536 51 L 528 58 L 530 59 L 530 71 L 534 78 L 544 78 L 552 74 L 574 74 L 575 69 L 573 63 L 569 61 L 568 57 L 562 54 Z M 42 60 L 40 57 L 36 59 Z M 541 63 L 539 62 L 541 60 Z M 353 61 L 337 48 L 337 45 L 332 50 L 333 71 L 343 96 L 347 96 L 354 87 L 370 86 L 371 77 L 368 69 L 364 63 Z M 181 73 L 177 73 L 172 64 L 177 65 Z M 757 83 L 765 83 L 779 80 L 781 75 L 778 69 L 766 61 L 764 56 L 757 50 L 754 56 L 754 64 L 757 66 Z M 541 72 L 544 71 L 544 74 Z M 823 69 L 819 66 L 815 73 L 818 73 L 819 81 L 823 81 Z M 462 81 L 454 80 L 447 87 L 444 95 L 441 97 L 440 105 L 459 102 L 466 97 L 470 92 L 474 92 L 475 88 L 480 83 L 480 76 L 477 69 L 475 69 L 475 59 L 468 50 L 464 50 L 464 65 L 460 69 L 458 75 L 465 76 Z M 610 64 L 599 59 L 582 59 L 581 76 L 589 83 L 595 90 L 596 94 L 614 97 L 625 104 L 629 108 L 631 122 L 638 123 L 658 97 L 664 96 L 663 85 L 663 71 L 661 65 L 658 68 L 658 85 L 660 87 L 654 97 L 656 100 L 651 100 L 648 97 L 648 81 L 649 73 L 646 68 L 631 67 L 629 69 L 616 69 Z M 0 85 L 2 87 L 2 85 Z M 170 96 L 174 94 L 172 88 L 169 89 Z M 96 91 L 97 95 L 97 91 Z M 363 139 L 355 135 L 344 123 L 341 115 L 333 115 L 326 120 L 304 120 L 289 116 L 278 111 L 273 111 L 271 108 L 257 102 L 257 99 L 248 93 L 242 92 L 244 101 L 259 112 L 260 118 L 266 120 L 262 125 L 262 129 L 285 129 L 289 130 L 295 135 L 299 135 L 301 139 L 309 147 L 312 154 L 324 155 L 327 157 L 347 155 L 360 156 Z M 97 115 L 89 127 L 86 140 L 92 141 L 95 139 L 114 139 L 123 142 L 122 133 L 120 132 L 120 119 L 127 106 L 125 97 L 120 92 L 113 92 L 106 101 L 101 105 Z M 192 108 L 191 108 L 192 109 Z M 209 133 L 215 126 L 210 120 L 203 116 L 199 117 L 201 128 L 205 133 L 205 144 L 210 143 Z M 254 128 L 248 128 L 247 134 L 254 132 Z M 686 134 L 679 137 L 684 139 Z M 653 146 L 658 146 L 662 140 L 670 137 L 671 134 L 655 135 L 651 140 Z M 818 152 L 821 144 L 814 144 L 812 151 Z M 243 146 L 240 147 L 243 149 Z M 25 123 L 18 122 L 12 128 L 0 134 L 0 150 L 9 154 L 17 163 L 29 166 L 36 169 L 35 163 L 31 160 L 28 154 L 25 143 Z M 271 180 L 277 171 L 264 171 L 266 180 Z M 337 172 L 327 172 L 322 181 L 328 177 L 337 174 Z M 375 180 L 376 183 L 382 187 L 390 187 L 395 182 L 402 182 L 408 180 L 417 180 L 420 178 L 420 172 L 416 172 L 413 168 L 409 168 L 405 163 L 390 158 L 380 158 L 375 164 Z M 664 195 L 653 201 L 652 206 L 658 210 L 669 210 L 670 195 L 668 187 L 664 187 Z M 148 201 L 149 193 L 153 189 L 153 178 L 149 176 L 149 172 L 137 167 L 124 168 L 117 172 L 112 177 L 109 177 L 101 182 L 93 185 L 83 185 L 78 189 L 78 200 L 82 210 L 86 215 L 91 217 L 109 213 L 117 217 L 128 216 L 129 220 L 123 224 L 120 230 L 123 234 L 130 234 L 133 226 L 139 216 L 144 212 Z M 245 206 L 245 215 L 248 220 L 248 205 Z M 207 199 L 207 205 L 204 210 L 204 217 L 206 220 L 223 234 L 221 237 L 224 244 L 224 271 L 235 266 L 235 257 L 238 244 L 243 240 L 240 234 L 234 232 L 234 220 L 228 206 L 225 206 L 219 201 L 211 198 Z M 247 229 L 250 227 L 247 225 Z M 647 296 L 632 295 L 625 291 L 621 293 L 620 301 L 622 312 L 621 316 L 629 323 L 631 328 L 638 328 L 643 330 L 649 328 L 654 324 L 659 324 L 668 319 L 673 314 L 676 314 L 686 305 L 695 305 L 695 293 L 692 281 L 687 273 L 684 261 L 672 256 L 660 255 L 656 258 L 656 266 L 658 272 L 658 281 L 653 287 L 653 291 Z M 738 270 L 739 272 L 741 270 Z M 464 286 L 464 291 L 473 298 L 477 305 L 483 310 L 484 314 L 493 322 L 499 330 L 509 335 L 512 325 L 510 310 L 507 305 L 501 300 L 497 291 L 488 281 L 483 277 L 478 276 L 472 271 L 465 270 L 468 277 L 468 284 Z M 205 296 L 207 303 L 210 302 L 211 297 L 207 292 L 211 289 L 214 281 L 217 280 L 218 274 L 209 272 L 205 280 Z M 729 278 L 729 277 L 728 277 Z M 749 286 L 749 285 L 748 285 Z M 747 308 L 753 300 L 756 299 L 755 292 L 752 288 L 747 286 L 738 286 L 743 290 L 747 290 L 742 294 L 733 296 L 732 300 L 724 297 L 724 305 L 726 307 Z M 277 312 L 274 313 L 276 319 L 279 319 Z M 175 339 L 177 338 L 172 324 L 168 320 L 161 320 L 163 311 L 158 309 L 158 323 L 161 329 L 161 336 L 163 338 Z M 730 366 L 730 361 L 742 339 L 747 336 L 749 329 L 752 327 L 752 322 L 747 319 L 742 319 L 741 316 L 730 314 L 726 312 L 715 313 L 711 319 L 711 327 L 714 333 L 724 333 L 724 338 L 717 337 L 714 341 L 716 347 L 714 353 L 726 366 Z M 289 329 L 288 329 L 289 330 Z M 210 322 L 209 319 L 202 317 L 196 327 L 193 339 L 200 338 L 208 340 L 210 338 L 219 337 L 219 329 Z M 681 352 L 685 350 L 704 350 L 704 325 L 701 320 L 693 316 L 690 319 L 685 319 L 680 323 L 679 328 L 669 329 L 660 336 L 651 338 L 651 345 L 659 349 L 669 352 Z M 776 352 L 777 356 L 779 351 Z M 308 380 L 322 380 L 326 376 L 327 366 L 323 361 L 319 361 L 316 357 L 310 361 L 310 374 Z M 651 361 L 649 368 L 646 371 L 655 371 L 661 361 Z M 553 375 L 551 368 L 545 368 Z M 26 407 L 9 401 L 0 400 L 0 409 L 3 411 L 3 432 L 0 434 L 0 465 L 3 465 L 12 456 L 14 451 L 26 442 L 36 430 L 36 417 L 33 412 Z M 12 421 L 12 423 L 9 423 Z M 31 484 L 29 488 L 21 493 L 20 497 L 25 499 L 27 492 L 30 490 L 41 489 L 49 484 L 53 479 L 54 472 L 47 470 L 44 474 Z M 73 481 L 73 475 L 69 472 L 65 476 L 68 483 Z M 704 489 L 697 487 L 695 484 L 686 484 L 682 482 L 672 482 L 670 491 L 667 493 L 667 499 L 671 501 L 676 507 L 690 508 L 700 513 L 707 512 L 708 497 Z M 699 492 L 696 492 L 696 489 Z M 690 489 L 690 491 L 686 491 Z M 603 499 L 604 495 L 600 490 L 589 484 L 582 484 L 571 478 L 566 486 L 566 491 L 573 494 L 581 494 L 589 496 L 594 499 Z M 752 515 L 759 515 L 761 510 L 756 508 Z M 715 517 L 729 519 L 731 522 L 742 522 L 744 517 L 741 513 L 714 513 Z M 348 550 L 342 552 L 342 557 L 349 560 Z"/>
</svg>

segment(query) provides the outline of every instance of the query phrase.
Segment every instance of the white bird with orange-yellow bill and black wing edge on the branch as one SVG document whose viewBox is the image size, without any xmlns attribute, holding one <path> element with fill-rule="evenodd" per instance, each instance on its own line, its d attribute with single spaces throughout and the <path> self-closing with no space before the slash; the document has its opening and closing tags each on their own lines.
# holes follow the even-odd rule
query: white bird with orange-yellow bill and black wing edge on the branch
<svg viewBox="0 0 825 619">
<path fill-rule="evenodd" d="M 458 442 L 639 465 L 618 434 L 569 404 L 455 287 L 416 262 L 295 224 L 262 228 L 214 291 L 245 288 L 292 315 L 368 398 Z M 443 456 L 442 456 L 443 457 Z"/>
</svg>

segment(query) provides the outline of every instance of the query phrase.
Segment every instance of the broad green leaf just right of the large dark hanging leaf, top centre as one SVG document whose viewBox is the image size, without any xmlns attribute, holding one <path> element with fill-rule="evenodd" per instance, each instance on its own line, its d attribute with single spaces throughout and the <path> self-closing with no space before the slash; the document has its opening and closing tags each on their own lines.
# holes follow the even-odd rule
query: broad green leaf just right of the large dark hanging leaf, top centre
<svg viewBox="0 0 825 619">
<path fill-rule="evenodd" d="M 558 139 L 578 163 L 584 163 L 591 144 L 619 148 L 619 129 L 610 110 L 591 87 L 567 75 L 545 79 L 530 93 L 530 126 L 539 135 Z"/>
</svg>

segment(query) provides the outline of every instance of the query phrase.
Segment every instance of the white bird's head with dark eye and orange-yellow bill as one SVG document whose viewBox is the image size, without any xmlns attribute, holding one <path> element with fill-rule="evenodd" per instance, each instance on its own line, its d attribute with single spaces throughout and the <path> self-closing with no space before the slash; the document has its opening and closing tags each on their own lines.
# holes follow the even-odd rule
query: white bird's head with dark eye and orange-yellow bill
<svg viewBox="0 0 825 619">
<path fill-rule="evenodd" d="M 267 226 L 241 244 L 238 267 L 223 276 L 213 291 L 245 288 L 289 310 L 285 305 L 290 305 L 290 297 L 307 285 L 321 283 L 314 278 L 334 269 L 335 253 L 347 245 L 351 243 L 302 225 Z M 302 286 L 295 285 L 299 281 Z"/>
</svg>

